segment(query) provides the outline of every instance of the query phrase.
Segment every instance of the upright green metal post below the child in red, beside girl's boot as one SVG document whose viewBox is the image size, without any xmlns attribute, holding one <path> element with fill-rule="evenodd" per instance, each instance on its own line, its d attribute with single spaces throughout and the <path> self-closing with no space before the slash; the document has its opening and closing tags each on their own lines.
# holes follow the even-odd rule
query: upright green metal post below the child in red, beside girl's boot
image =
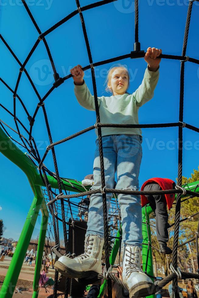
<svg viewBox="0 0 199 298">
<path fill-rule="evenodd" d="M 142 245 L 142 265 L 143 265 L 143 271 L 147 272 L 149 275 L 154 276 L 153 274 L 153 258 L 152 258 L 152 248 L 149 247 L 148 251 L 148 241 L 151 243 L 151 229 L 150 225 L 148 224 L 148 233 L 147 233 L 147 225 L 146 225 L 146 219 L 149 223 L 149 214 L 152 213 L 153 210 L 150 206 L 146 207 L 146 213 L 145 214 L 145 207 L 142 207 L 142 236 L 143 236 L 143 245 Z M 148 254 L 148 261 L 147 261 L 147 254 Z M 146 266 L 147 262 L 147 266 Z M 152 279 L 154 281 L 154 279 Z M 149 298 L 155 298 L 155 295 L 148 296 Z"/>
</svg>

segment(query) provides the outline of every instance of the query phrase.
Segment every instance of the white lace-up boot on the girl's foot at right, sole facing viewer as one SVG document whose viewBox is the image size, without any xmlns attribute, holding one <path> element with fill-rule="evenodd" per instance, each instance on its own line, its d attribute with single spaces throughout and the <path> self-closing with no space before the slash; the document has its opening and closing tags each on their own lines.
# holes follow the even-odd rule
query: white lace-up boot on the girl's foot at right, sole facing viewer
<svg viewBox="0 0 199 298">
<path fill-rule="evenodd" d="M 140 247 L 124 247 L 122 278 L 129 290 L 130 298 L 145 297 L 156 292 L 152 280 L 141 270 L 140 257 Z"/>
</svg>

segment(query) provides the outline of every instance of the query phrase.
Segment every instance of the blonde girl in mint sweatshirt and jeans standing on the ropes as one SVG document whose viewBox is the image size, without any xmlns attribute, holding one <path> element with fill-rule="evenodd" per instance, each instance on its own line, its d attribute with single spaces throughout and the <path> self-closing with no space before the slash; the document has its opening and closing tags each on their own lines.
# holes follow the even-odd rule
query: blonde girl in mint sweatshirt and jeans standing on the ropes
<svg viewBox="0 0 199 298">
<path fill-rule="evenodd" d="M 159 78 L 162 50 L 149 47 L 145 54 L 148 63 L 144 78 L 133 94 L 127 93 L 129 73 L 124 67 L 114 67 L 108 72 L 107 88 L 113 93 L 110 97 L 98 97 L 101 123 L 138 124 L 138 109 L 152 99 Z M 75 85 L 75 96 L 81 106 L 95 111 L 94 96 L 89 92 L 81 65 L 71 69 Z M 106 90 L 107 90 L 106 88 Z M 105 184 L 112 188 L 117 170 L 116 189 L 139 189 L 138 175 L 142 158 L 142 137 L 139 128 L 103 127 L 103 158 Z M 97 131 L 96 131 L 97 133 Z M 93 165 L 94 184 L 92 189 L 100 189 L 99 142 Z M 106 193 L 107 210 L 112 193 Z M 122 218 L 123 272 L 122 278 L 129 289 L 130 297 L 148 296 L 154 293 L 152 280 L 141 270 L 142 217 L 140 196 L 118 195 Z M 75 258 L 62 256 L 55 268 L 73 278 L 89 276 L 89 271 L 102 273 L 101 257 L 104 243 L 102 194 L 92 194 L 90 198 L 88 228 L 85 239 L 85 252 Z"/>
</svg>

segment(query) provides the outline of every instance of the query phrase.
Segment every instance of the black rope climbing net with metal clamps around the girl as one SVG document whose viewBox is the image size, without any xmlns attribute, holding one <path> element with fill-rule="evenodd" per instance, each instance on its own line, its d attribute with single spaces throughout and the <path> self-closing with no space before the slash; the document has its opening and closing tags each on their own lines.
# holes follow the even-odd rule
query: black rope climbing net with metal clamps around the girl
<svg viewBox="0 0 199 298">
<path fill-rule="evenodd" d="M 173 280 L 173 295 L 178 296 L 177 292 L 177 279 L 178 278 L 197 278 L 199 279 L 199 275 L 197 274 L 192 274 L 188 272 L 178 272 L 177 271 L 177 248 L 178 248 L 178 237 L 179 237 L 179 224 L 180 224 L 180 205 L 181 205 L 181 195 L 187 195 L 190 196 L 199 196 L 197 192 L 193 192 L 190 190 L 185 190 L 182 188 L 182 153 L 183 153 L 183 128 L 188 128 L 190 130 L 194 130 L 195 132 L 199 132 L 199 128 L 192 126 L 188 123 L 185 123 L 183 121 L 183 102 L 184 102 L 184 68 L 185 68 L 185 62 L 189 61 L 191 63 L 199 64 L 199 60 L 191 58 L 186 56 L 186 48 L 187 48 L 187 40 L 188 40 L 188 33 L 189 33 L 189 25 L 190 25 L 190 18 L 191 18 L 191 11 L 193 7 L 193 2 L 198 1 L 198 0 L 191 0 L 189 1 L 189 6 L 187 10 L 187 20 L 186 20 L 186 27 L 185 27 L 185 33 L 184 33 L 184 40 L 183 40 L 183 49 L 182 49 L 182 55 L 181 56 L 176 56 L 176 55 L 167 55 L 167 54 L 161 54 L 159 57 L 160 58 L 165 58 L 165 59 L 173 59 L 173 60 L 180 60 L 181 67 L 180 67 L 180 107 L 179 107 L 179 121 L 175 123 L 156 123 L 156 124 L 139 124 L 139 125 L 130 125 L 130 124 L 107 124 L 107 123 L 101 123 L 100 122 L 100 113 L 99 113 L 99 107 L 98 107 L 98 99 L 97 99 L 97 88 L 96 88 L 96 79 L 95 79 L 95 67 L 100 66 L 103 64 L 108 64 L 112 63 L 115 61 L 123 60 L 126 58 L 131 58 L 131 59 L 136 59 L 140 57 L 145 56 L 145 52 L 141 50 L 140 43 L 138 40 L 138 0 L 135 0 L 135 36 L 134 36 L 134 50 L 131 51 L 130 54 L 125 54 L 121 55 L 118 57 L 114 57 L 111 59 L 107 59 L 104 61 L 99 61 L 99 62 L 93 62 L 90 46 L 89 46 L 89 39 L 87 36 L 87 31 L 86 31 L 86 25 L 84 21 L 84 16 L 83 12 L 89 9 L 93 9 L 96 7 L 99 7 L 101 5 L 106 5 L 108 3 L 114 2 L 114 1 L 120 1 L 120 0 L 103 0 L 99 1 L 93 4 L 89 4 L 86 6 L 80 6 L 79 0 L 75 0 L 77 9 L 73 12 L 71 12 L 68 16 L 66 16 L 64 19 L 61 19 L 58 23 L 54 24 L 51 28 L 49 28 L 47 31 L 42 33 L 40 30 L 39 26 L 37 25 L 28 5 L 26 4 L 25 0 L 21 0 L 24 8 L 26 9 L 28 15 L 30 16 L 30 19 L 35 26 L 35 29 L 38 32 L 38 39 L 34 43 L 32 49 L 30 50 L 29 54 L 27 55 L 26 59 L 22 63 L 19 61 L 18 57 L 16 54 L 13 52 L 9 44 L 6 42 L 6 40 L 3 38 L 3 36 L 0 34 L 0 38 L 2 42 L 5 44 L 7 49 L 10 51 L 12 56 L 15 58 L 17 63 L 19 64 L 19 75 L 16 81 L 16 86 L 15 89 L 12 90 L 12 88 L 9 87 L 9 85 L 2 79 L 0 78 L 1 82 L 10 90 L 10 92 L 13 94 L 13 112 L 9 111 L 8 109 L 5 108 L 3 104 L 0 103 L 0 106 L 2 109 L 4 109 L 6 112 L 8 112 L 12 117 L 15 122 L 16 128 L 13 129 L 9 125 L 7 125 L 3 120 L 0 120 L 0 126 L 2 129 L 5 131 L 5 133 L 9 136 L 9 138 L 13 141 L 15 141 L 17 144 L 20 144 L 26 150 L 28 151 L 28 156 L 29 158 L 33 161 L 33 163 L 38 167 L 41 179 L 43 180 L 45 187 L 46 187 L 46 194 L 48 196 L 47 199 L 47 205 L 49 206 L 49 210 L 51 212 L 51 219 L 52 219 L 52 224 L 53 224 L 53 230 L 54 230 L 54 240 L 56 244 L 56 250 L 59 251 L 60 247 L 60 239 L 59 239 L 59 222 L 62 222 L 63 225 L 63 234 L 64 234 L 64 245 L 65 245 L 65 254 L 69 253 L 68 249 L 68 230 L 67 227 L 69 224 L 71 224 L 74 227 L 74 213 L 75 210 L 77 210 L 78 206 L 75 200 L 75 198 L 80 198 L 80 196 L 86 196 L 86 195 L 91 195 L 93 193 L 102 193 L 102 198 L 103 198 L 103 220 L 104 220 L 104 250 L 105 250 L 105 264 L 106 264 L 106 270 L 105 270 L 105 276 L 108 279 L 108 296 L 112 297 L 111 294 L 111 281 L 110 279 L 113 279 L 114 281 L 118 282 L 121 286 L 124 286 L 123 283 L 117 279 L 113 274 L 111 274 L 110 271 L 110 262 L 109 262 L 109 239 L 110 236 L 113 238 L 115 237 L 115 232 L 112 232 L 110 235 L 109 233 L 109 218 L 107 216 L 108 210 L 106 208 L 106 193 L 110 192 L 114 194 L 122 193 L 122 194 L 134 194 L 134 195 L 141 195 L 141 194 L 169 194 L 169 193 L 176 193 L 177 194 L 177 199 L 176 199 L 176 211 L 175 211 L 175 224 L 174 224 L 174 238 L 173 238 L 173 255 L 172 255 L 172 268 L 173 268 L 173 273 L 171 273 L 169 276 L 164 278 L 162 281 L 159 282 L 159 286 L 165 286 L 169 281 Z M 95 101 L 95 110 L 96 110 L 96 123 L 86 129 L 83 129 L 77 133 L 72 134 L 69 137 L 66 137 L 62 140 L 58 140 L 56 142 L 53 141 L 52 135 L 51 135 L 51 129 L 49 126 L 48 122 L 48 117 L 47 117 L 47 112 L 45 108 L 45 100 L 47 97 L 54 91 L 55 88 L 58 88 L 61 84 L 63 84 L 66 80 L 70 79 L 72 77 L 71 74 L 66 75 L 65 77 L 60 77 L 57 70 L 56 66 L 54 64 L 53 57 L 51 55 L 50 48 L 48 46 L 48 43 L 46 41 L 46 36 L 57 29 L 59 26 L 67 22 L 69 19 L 72 17 L 76 16 L 79 14 L 81 24 L 82 24 L 82 31 L 86 43 L 86 50 L 89 58 L 89 65 L 85 66 L 82 68 L 83 71 L 91 69 L 91 75 L 92 75 L 92 82 L 93 82 L 93 92 L 94 92 L 94 101 Z M 35 87 L 30 75 L 28 74 L 26 70 L 26 64 L 30 60 L 30 57 L 34 53 L 34 51 L 37 49 L 38 45 L 40 42 L 44 43 L 44 46 L 46 48 L 49 60 L 51 61 L 51 66 L 52 70 L 54 73 L 54 83 L 51 86 L 51 88 L 48 90 L 48 92 L 41 97 L 37 88 Z M 23 103 L 23 100 L 19 97 L 17 94 L 17 90 L 19 87 L 19 82 L 22 78 L 23 73 L 26 75 L 28 78 L 37 98 L 38 98 L 38 103 L 35 108 L 35 112 L 31 116 L 28 112 L 28 109 L 26 108 L 25 104 Z M 27 128 L 25 125 L 20 121 L 20 119 L 17 117 L 16 114 L 16 101 L 19 101 L 21 106 L 23 107 L 27 118 L 29 120 L 30 127 Z M 33 131 L 33 125 L 35 122 L 35 118 L 37 116 L 37 113 L 39 109 L 42 109 L 43 114 L 44 114 L 44 119 L 45 119 L 45 124 L 47 128 L 47 133 L 49 137 L 49 145 L 47 146 L 47 149 L 44 153 L 43 156 L 40 156 L 37 144 L 35 142 L 34 136 L 32 134 Z M 18 142 L 14 138 L 12 138 L 7 130 L 7 127 L 11 130 L 13 130 L 15 133 L 19 135 L 19 138 L 21 142 Z M 105 183 L 105 175 L 104 175 L 104 162 L 103 162 L 103 146 L 102 146 L 102 133 L 101 133 L 101 128 L 102 127 L 119 127 L 119 128 L 162 128 L 162 127 L 178 127 L 178 137 L 179 137 L 179 146 L 178 146 L 178 177 L 177 177 L 177 188 L 175 190 L 166 190 L 166 191 L 155 191 L 155 192 L 143 192 L 143 191 L 134 191 L 134 190 L 116 190 L 116 189 L 108 189 L 106 188 L 106 183 Z M 27 133 L 28 138 L 26 138 L 21 132 L 21 128 Z M 56 159 L 56 154 L 55 154 L 55 146 L 58 146 L 68 140 L 71 140 L 77 136 L 80 136 L 90 130 L 97 129 L 98 132 L 98 139 L 99 139 L 99 153 L 100 153 L 100 167 L 101 167 L 101 188 L 100 189 L 85 189 L 85 192 L 81 192 L 81 194 L 70 194 L 67 193 L 67 191 L 64 189 L 63 185 L 63 180 L 61 179 L 59 175 L 59 170 L 58 170 L 58 164 L 57 164 L 57 159 Z M 55 173 L 51 172 L 47 167 L 44 165 L 45 158 L 47 157 L 47 154 L 51 151 L 52 157 L 53 157 L 53 162 L 54 162 L 54 169 Z M 58 189 L 57 192 L 53 191 L 50 185 L 50 182 L 48 180 L 47 174 L 51 175 L 54 179 L 56 179 L 57 184 L 58 184 Z M 74 180 L 75 181 L 75 180 Z M 77 181 L 75 181 L 76 183 Z M 64 192 L 63 193 L 63 190 Z M 75 188 L 75 186 L 72 186 L 72 191 L 73 192 L 79 192 L 78 188 Z M 118 204 L 117 200 L 113 200 L 113 208 L 115 208 L 115 212 L 118 215 Z M 114 212 L 111 213 L 114 216 Z M 68 222 L 68 217 L 71 218 L 71 223 Z M 148 227 L 148 225 L 147 225 Z M 198 234 L 196 236 L 198 238 Z M 197 240 L 197 239 L 196 239 Z M 197 242 L 197 241 L 196 241 Z M 149 244 L 150 246 L 151 244 Z M 197 252 L 198 252 L 198 245 L 197 245 Z M 109 272 L 109 273 L 108 273 Z M 98 278 L 103 278 L 103 275 L 99 275 Z M 57 285 L 58 285 L 58 272 L 55 271 L 55 284 L 54 284 L 54 297 L 57 295 Z M 65 283 L 65 297 L 68 297 L 68 278 L 66 279 Z"/>
</svg>

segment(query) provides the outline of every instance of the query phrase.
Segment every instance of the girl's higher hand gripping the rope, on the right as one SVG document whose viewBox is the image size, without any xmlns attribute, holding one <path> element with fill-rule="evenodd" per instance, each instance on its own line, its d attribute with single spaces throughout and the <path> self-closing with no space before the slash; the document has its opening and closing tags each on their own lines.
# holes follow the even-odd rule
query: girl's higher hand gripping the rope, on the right
<svg viewBox="0 0 199 298">
<path fill-rule="evenodd" d="M 148 47 L 144 59 L 148 63 L 150 71 L 156 71 L 158 69 L 161 58 L 157 57 L 160 54 L 162 54 L 161 49 Z"/>
</svg>

